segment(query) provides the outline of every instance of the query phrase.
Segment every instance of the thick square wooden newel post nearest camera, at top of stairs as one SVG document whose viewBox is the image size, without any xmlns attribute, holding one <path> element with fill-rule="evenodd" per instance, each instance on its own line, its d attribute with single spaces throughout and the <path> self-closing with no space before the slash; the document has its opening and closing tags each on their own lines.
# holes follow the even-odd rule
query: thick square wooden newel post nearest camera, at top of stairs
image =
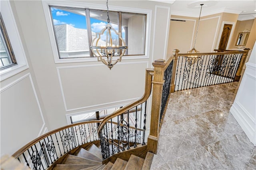
<svg viewBox="0 0 256 170">
<path fill-rule="evenodd" d="M 159 138 L 159 120 L 160 108 L 162 101 L 162 91 L 164 84 L 164 67 L 165 60 L 158 59 L 154 63 L 154 79 L 152 81 L 152 106 L 151 106 L 151 120 L 150 120 L 150 134 L 148 136 L 148 151 L 156 154 L 158 138 Z"/>
</svg>

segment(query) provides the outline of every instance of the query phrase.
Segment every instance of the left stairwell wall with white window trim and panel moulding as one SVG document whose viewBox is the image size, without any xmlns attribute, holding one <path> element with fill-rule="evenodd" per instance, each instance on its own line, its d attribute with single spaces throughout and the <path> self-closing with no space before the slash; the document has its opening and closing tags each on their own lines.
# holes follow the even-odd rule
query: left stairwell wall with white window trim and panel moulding
<svg viewBox="0 0 256 170">
<path fill-rule="evenodd" d="M 1 1 L 1 14 L 14 55 L 18 58 L 18 65 L 1 70 L 0 154 L 2 156 L 13 154 L 26 143 L 42 135 L 47 131 L 48 122 L 44 115 L 44 105 L 20 30 L 20 23 L 15 22 L 8 1 Z M 15 11 L 14 15 L 16 15 Z"/>
</svg>

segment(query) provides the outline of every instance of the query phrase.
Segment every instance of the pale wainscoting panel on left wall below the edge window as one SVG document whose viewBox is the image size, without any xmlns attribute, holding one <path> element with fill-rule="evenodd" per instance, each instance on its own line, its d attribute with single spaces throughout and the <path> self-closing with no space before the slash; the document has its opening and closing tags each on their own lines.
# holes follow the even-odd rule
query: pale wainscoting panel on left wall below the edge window
<svg viewBox="0 0 256 170">
<path fill-rule="evenodd" d="M 45 121 L 30 73 L 1 88 L 0 93 L 1 154 L 13 154 L 42 134 Z"/>
</svg>

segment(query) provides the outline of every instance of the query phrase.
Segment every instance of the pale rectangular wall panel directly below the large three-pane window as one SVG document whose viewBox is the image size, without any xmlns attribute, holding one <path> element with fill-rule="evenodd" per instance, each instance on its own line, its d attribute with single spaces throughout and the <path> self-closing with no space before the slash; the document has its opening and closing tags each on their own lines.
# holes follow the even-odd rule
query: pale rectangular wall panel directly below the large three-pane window
<svg viewBox="0 0 256 170">
<path fill-rule="evenodd" d="M 138 99 L 144 93 L 146 67 L 147 61 L 121 62 L 112 70 L 103 64 L 57 67 L 66 111 Z"/>
</svg>

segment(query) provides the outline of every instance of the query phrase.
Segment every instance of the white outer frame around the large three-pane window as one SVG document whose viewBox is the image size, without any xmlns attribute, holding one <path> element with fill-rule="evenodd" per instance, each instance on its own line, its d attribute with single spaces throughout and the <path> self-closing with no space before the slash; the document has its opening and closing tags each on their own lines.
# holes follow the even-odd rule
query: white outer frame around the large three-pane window
<svg viewBox="0 0 256 170">
<path fill-rule="evenodd" d="M 50 6 L 55 7 L 64 7 L 64 8 L 84 8 L 89 10 L 102 10 L 106 11 L 105 4 L 88 4 L 84 2 L 69 2 L 69 1 L 42 1 L 44 14 L 46 18 L 46 24 L 48 28 L 48 33 L 50 37 L 50 42 L 52 45 L 52 52 L 54 56 L 55 63 L 76 63 L 76 62 L 89 62 L 89 61 L 98 61 L 97 57 L 83 57 L 83 58 L 59 58 L 58 45 L 56 43 L 55 32 L 52 29 L 54 24 L 52 23 L 52 15 L 50 11 Z M 136 14 L 145 14 L 146 15 L 146 25 L 145 25 L 145 47 L 144 55 L 126 55 L 122 57 L 122 60 L 128 59 L 148 59 L 149 58 L 149 45 L 150 45 L 150 26 L 151 26 L 151 15 L 152 10 L 139 9 L 139 8 L 130 8 L 130 7 L 121 7 L 121 6 L 109 6 L 113 12 L 125 12 L 125 13 L 136 13 Z M 88 21 L 87 21 L 88 23 Z M 115 59 L 115 58 L 114 58 Z M 117 57 L 116 57 L 117 59 Z"/>
</svg>

